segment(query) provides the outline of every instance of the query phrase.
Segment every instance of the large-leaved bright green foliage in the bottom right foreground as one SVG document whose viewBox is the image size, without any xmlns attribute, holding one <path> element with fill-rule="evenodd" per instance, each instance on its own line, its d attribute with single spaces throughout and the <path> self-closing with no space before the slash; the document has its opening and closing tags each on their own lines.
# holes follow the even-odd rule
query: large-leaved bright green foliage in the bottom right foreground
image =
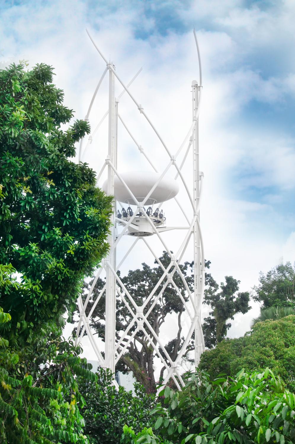
<svg viewBox="0 0 295 444">
<path fill-rule="evenodd" d="M 163 391 L 164 406 L 151 412 L 154 433 L 136 437 L 124 429 L 124 443 L 251 444 L 295 441 L 295 395 L 271 370 L 219 377 L 192 374 L 182 392 Z"/>
</svg>

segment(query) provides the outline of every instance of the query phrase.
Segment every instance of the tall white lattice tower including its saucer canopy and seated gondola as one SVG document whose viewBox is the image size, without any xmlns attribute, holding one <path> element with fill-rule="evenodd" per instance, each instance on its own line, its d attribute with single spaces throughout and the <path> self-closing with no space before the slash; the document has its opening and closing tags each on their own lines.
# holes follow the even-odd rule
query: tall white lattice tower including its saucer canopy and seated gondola
<svg viewBox="0 0 295 444">
<path fill-rule="evenodd" d="M 131 83 L 136 79 L 141 69 L 135 77 L 125 85 L 118 75 L 115 66 L 108 62 L 100 52 L 100 49 L 96 46 L 89 32 L 88 35 L 106 63 L 106 68 L 96 87 L 85 119 L 88 120 L 89 118 L 94 99 L 107 73 L 108 111 L 106 111 L 104 117 L 100 120 L 96 129 L 89 137 L 86 147 L 83 147 L 84 141 L 81 141 L 79 161 L 81 162 L 83 160 L 85 150 L 94 139 L 94 136 L 104 119 L 108 116 L 108 151 L 106 152 L 104 163 L 101 165 L 97 175 L 97 183 L 108 195 L 113 195 L 115 200 L 111 221 L 112 227 L 108 236 L 108 243 L 110 245 L 108 257 L 102 262 L 101 267 L 98 269 L 86 300 L 83 301 L 81 296 L 78 299 L 80 319 L 76 333 L 76 343 L 80 341 L 80 338 L 83 337 L 86 332 L 93 350 L 96 353 L 99 364 L 105 369 L 111 369 L 114 373 L 116 363 L 126 352 L 126 349 L 130 341 L 133 340 L 135 334 L 141 330 L 144 337 L 148 339 L 151 347 L 154 349 L 156 356 L 162 361 L 166 368 L 163 384 L 166 384 L 170 378 L 173 378 L 176 386 L 180 388 L 181 385 L 184 385 L 181 377 L 180 363 L 193 333 L 195 334 L 195 365 L 198 365 L 199 357 L 204 350 L 201 308 L 204 293 L 205 263 L 203 239 L 199 223 L 199 208 L 203 183 L 203 173 L 199 171 L 199 111 L 202 97 L 202 70 L 196 33 L 194 30 L 199 62 L 199 82 L 194 80 L 191 84 L 191 122 L 189 122 L 189 130 L 187 131 L 183 142 L 175 151 L 172 151 L 171 147 L 168 147 L 164 143 L 158 130 L 155 128 L 154 124 L 151 123 L 151 120 L 145 113 L 144 108 L 136 101 L 136 98 L 132 95 L 129 89 Z M 117 97 L 115 95 L 115 82 L 123 87 L 123 91 Z M 163 151 L 167 159 L 164 168 L 162 167 L 162 169 L 159 169 L 158 166 L 155 166 L 155 159 L 151 159 L 148 148 L 144 150 L 142 145 L 136 141 L 132 131 L 121 117 L 119 113 L 119 101 L 124 93 L 129 95 L 131 101 L 134 103 L 135 107 L 137 107 L 142 117 L 149 123 L 151 131 L 154 131 L 157 136 L 159 149 Z M 124 173 L 120 170 L 120 164 L 118 162 L 119 122 L 121 122 L 120 125 L 122 124 L 122 126 L 125 127 L 131 137 L 132 144 L 135 144 L 138 147 L 144 162 L 146 162 L 147 168 L 145 171 L 128 171 Z M 102 150 L 100 149 L 100 151 Z M 183 173 L 183 166 L 185 164 L 188 164 L 189 168 L 192 169 L 190 182 L 187 181 L 187 175 Z M 173 177 L 171 177 L 171 170 L 172 172 L 174 170 Z M 106 177 L 105 180 L 104 176 Z M 179 197 L 179 195 L 182 197 Z M 189 204 L 188 210 L 183 207 L 184 195 Z M 167 218 L 165 218 L 162 205 L 164 207 L 167 201 L 170 201 L 169 208 L 171 211 L 167 215 Z M 182 214 L 185 226 L 171 226 L 171 220 L 173 221 L 173 214 L 175 214 L 176 210 L 177 213 Z M 169 238 L 167 238 L 166 234 L 171 230 L 175 230 L 173 232 L 175 233 L 175 237 L 180 239 L 179 248 L 175 253 L 171 252 Z M 165 250 L 170 257 L 170 264 L 166 268 L 159 260 L 159 251 L 155 250 L 155 242 L 151 242 L 154 238 L 157 238 L 159 241 L 158 243 L 160 244 L 161 250 Z M 123 240 L 125 241 L 124 245 L 122 242 Z M 136 304 L 117 273 L 122 264 L 132 256 L 136 244 L 139 241 L 145 244 L 163 271 L 158 283 L 150 289 L 148 298 L 144 301 L 142 306 Z M 127 250 L 126 245 L 128 247 Z M 120 262 L 117 261 L 119 250 L 121 258 Z M 194 261 L 194 291 L 192 292 L 179 268 L 179 263 L 183 259 L 187 250 L 190 251 L 191 255 L 193 254 Z M 134 263 L 135 260 L 136 258 L 133 256 L 132 263 Z M 137 268 L 140 267 L 140 263 L 139 260 Z M 181 277 L 186 289 L 185 297 L 183 297 L 183 294 L 180 292 L 173 279 L 176 272 Z M 103 274 L 105 275 L 105 285 L 96 300 L 93 301 L 94 304 L 91 311 L 86 315 L 87 305 L 92 296 L 96 281 Z M 186 324 L 184 341 L 176 359 L 173 361 L 165 349 L 165 343 L 161 337 L 161 333 L 157 334 L 154 331 L 150 321 L 150 316 L 152 315 L 152 310 L 155 307 L 155 304 L 159 301 L 159 298 L 169 284 L 173 286 L 183 303 L 183 322 Z M 161 290 L 157 292 L 160 285 L 163 286 Z M 104 294 L 106 301 L 106 321 L 103 350 L 102 341 L 99 341 L 93 334 L 89 325 L 89 320 L 95 306 Z M 132 321 L 127 329 L 120 332 L 119 336 L 118 332 L 116 335 L 116 297 L 121 298 L 132 317 Z M 160 350 L 162 350 L 162 353 Z M 103 351 L 104 357 L 102 354 Z M 166 359 L 163 359 L 163 354 Z M 116 385 L 116 381 L 114 381 L 114 384 Z"/>
</svg>

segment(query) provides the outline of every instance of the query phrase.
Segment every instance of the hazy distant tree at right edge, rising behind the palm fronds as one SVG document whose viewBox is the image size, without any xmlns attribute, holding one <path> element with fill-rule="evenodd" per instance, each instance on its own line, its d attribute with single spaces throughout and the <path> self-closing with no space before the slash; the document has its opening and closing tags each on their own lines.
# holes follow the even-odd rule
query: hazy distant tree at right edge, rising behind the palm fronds
<svg viewBox="0 0 295 444">
<path fill-rule="evenodd" d="M 295 305 L 295 264 L 277 265 L 267 273 L 260 272 L 259 285 L 253 287 L 254 301 L 262 302 L 263 308 L 273 305 Z"/>
</svg>

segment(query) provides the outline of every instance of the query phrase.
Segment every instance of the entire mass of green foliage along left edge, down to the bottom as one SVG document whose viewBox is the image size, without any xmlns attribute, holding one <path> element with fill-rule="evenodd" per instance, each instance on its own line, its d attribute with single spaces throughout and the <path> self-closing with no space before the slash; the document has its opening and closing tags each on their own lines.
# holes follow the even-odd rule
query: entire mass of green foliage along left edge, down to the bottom
<svg viewBox="0 0 295 444">
<path fill-rule="evenodd" d="M 0 71 L 0 442 L 88 443 L 77 377 L 96 381 L 61 336 L 84 278 L 107 253 L 111 199 L 68 160 L 90 128 L 72 119 L 52 68 Z"/>
</svg>

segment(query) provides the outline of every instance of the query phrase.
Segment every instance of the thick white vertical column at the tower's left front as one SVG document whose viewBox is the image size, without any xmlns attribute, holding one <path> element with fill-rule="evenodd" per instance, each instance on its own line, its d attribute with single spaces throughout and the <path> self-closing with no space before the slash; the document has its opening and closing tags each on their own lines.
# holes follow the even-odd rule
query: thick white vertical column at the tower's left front
<svg viewBox="0 0 295 444">
<path fill-rule="evenodd" d="M 109 100 L 108 100 L 108 157 L 112 164 L 116 164 L 116 124 L 115 124 L 115 75 L 109 70 Z M 108 195 L 114 194 L 115 174 L 111 166 L 108 166 Z M 114 205 L 115 210 L 115 205 Z M 115 242 L 115 218 L 114 212 L 111 217 L 111 233 L 108 235 L 108 243 L 112 248 Z M 106 260 L 106 300 L 105 300 L 105 367 L 115 373 L 115 348 L 116 339 L 116 279 L 108 267 L 108 263 L 116 270 L 115 253 L 112 251 Z"/>
</svg>

